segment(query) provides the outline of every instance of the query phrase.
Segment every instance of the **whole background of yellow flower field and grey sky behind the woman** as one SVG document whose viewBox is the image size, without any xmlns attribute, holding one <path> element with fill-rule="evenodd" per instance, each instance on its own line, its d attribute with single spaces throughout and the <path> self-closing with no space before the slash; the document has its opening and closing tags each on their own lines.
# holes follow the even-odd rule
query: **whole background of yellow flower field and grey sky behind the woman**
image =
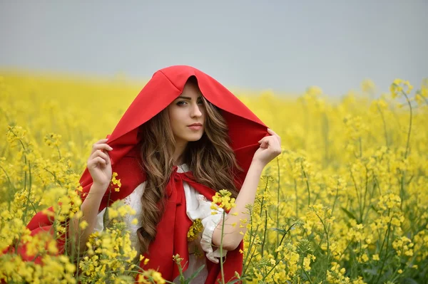
<svg viewBox="0 0 428 284">
<path fill-rule="evenodd" d="M 0 252 L 57 201 L 75 216 L 93 143 L 156 70 L 184 64 L 281 137 L 245 236 L 247 283 L 428 283 L 427 15 L 428 0 L 0 0 Z M 76 283 L 123 276 L 131 249 L 114 235 Z M 0 282 L 75 278 L 38 239 L 48 268 L 0 253 Z"/>
</svg>

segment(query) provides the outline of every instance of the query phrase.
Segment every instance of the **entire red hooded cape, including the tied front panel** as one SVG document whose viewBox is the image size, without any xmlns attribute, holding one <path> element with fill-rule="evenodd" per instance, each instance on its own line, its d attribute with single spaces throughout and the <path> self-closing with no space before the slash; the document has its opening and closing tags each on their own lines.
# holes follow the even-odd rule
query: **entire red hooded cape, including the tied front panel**
<svg viewBox="0 0 428 284">
<path fill-rule="evenodd" d="M 269 135 L 267 127 L 217 80 L 193 67 L 175 65 L 158 70 L 153 74 L 151 80 L 128 107 L 112 134 L 108 135 L 108 144 L 113 147 L 113 150 L 109 152 L 113 172 L 118 173 L 122 186 L 120 191 L 106 192 L 98 212 L 113 201 L 125 198 L 138 184 L 146 180 L 136 147 L 138 142 L 144 139 L 137 135 L 138 127 L 175 100 L 183 92 L 184 85 L 191 76 L 197 78 L 204 97 L 223 110 L 222 114 L 229 128 L 230 146 L 235 152 L 238 164 L 244 169 L 235 179 L 235 183 L 240 189 L 253 155 L 259 147 L 258 141 Z M 188 182 L 190 186 L 210 200 L 215 194 L 213 189 L 195 182 L 191 172 L 179 174 L 176 172 L 176 168 L 174 169 L 166 188 L 168 201 L 165 206 L 165 214 L 158 223 L 156 239 L 150 244 L 146 254 L 150 261 L 148 265 L 144 266 L 144 268 L 158 268 L 163 277 L 170 281 L 178 275 L 178 268 L 173 263 L 172 256 L 179 253 L 180 257 L 185 259 L 183 264 L 186 260 L 188 261 L 187 232 L 191 221 L 185 213 L 183 181 Z M 83 187 L 81 198 L 84 200 L 92 185 L 88 169 L 83 172 L 80 183 Z M 110 201 L 108 201 L 108 195 L 110 195 Z M 27 227 L 33 231 L 47 231 L 51 225 L 52 220 L 39 212 L 31 219 Z M 59 246 L 60 253 L 63 253 L 63 247 Z M 235 271 L 242 272 L 243 255 L 239 252 L 240 248 L 243 248 L 243 242 L 235 251 L 229 251 L 225 257 L 226 281 L 234 277 Z M 215 280 L 220 278 L 220 264 L 207 260 L 207 268 L 208 278 L 205 283 L 214 284 Z"/>
</svg>

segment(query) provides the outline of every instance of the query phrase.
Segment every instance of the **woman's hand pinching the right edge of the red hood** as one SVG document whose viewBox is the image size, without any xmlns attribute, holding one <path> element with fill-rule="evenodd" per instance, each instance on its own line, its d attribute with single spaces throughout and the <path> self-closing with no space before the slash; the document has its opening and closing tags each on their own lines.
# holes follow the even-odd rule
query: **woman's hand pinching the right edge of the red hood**
<svg viewBox="0 0 428 284">
<path fill-rule="evenodd" d="M 253 162 L 260 162 L 265 167 L 272 159 L 281 154 L 281 137 L 273 130 L 267 128 L 270 136 L 263 137 L 259 143 L 260 148 L 254 153 Z"/>
</svg>

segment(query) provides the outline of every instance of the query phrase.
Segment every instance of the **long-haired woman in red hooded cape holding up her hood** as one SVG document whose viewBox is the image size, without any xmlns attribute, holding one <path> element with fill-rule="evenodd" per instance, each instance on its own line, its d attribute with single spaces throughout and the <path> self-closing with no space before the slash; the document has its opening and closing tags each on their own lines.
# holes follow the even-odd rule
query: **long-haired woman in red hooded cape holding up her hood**
<svg viewBox="0 0 428 284">
<path fill-rule="evenodd" d="M 187 276 L 205 264 L 193 283 L 215 283 L 222 214 L 211 215 L 210 201 L 216 191 L 228 189 L 236 197 L 223 233 L 230 280 L 242 272 L 245 227 L 239 224 L 249 219 L 245 206 L 253 204 L 263 168 L 280 152 L 280 137 L 216 80 L 190 66 L 158 70 L 113 133 L 93 144 L 81 177 L 81 210 L 88 222 L 76 234 L 81 250 L 88 236 L 106 225 L 106 207 L 124 199 L 138 212 L 138 224 L 128 226 L 133 245 L 150 259 L 144 268 L 178 281 L 172 256 L 179 253 Z M 109 186 L 112 172 L 121 178 L 120 191 Z M 204 228 L 188 241 L 195 219 L 202 219 Z"/>
</svg>

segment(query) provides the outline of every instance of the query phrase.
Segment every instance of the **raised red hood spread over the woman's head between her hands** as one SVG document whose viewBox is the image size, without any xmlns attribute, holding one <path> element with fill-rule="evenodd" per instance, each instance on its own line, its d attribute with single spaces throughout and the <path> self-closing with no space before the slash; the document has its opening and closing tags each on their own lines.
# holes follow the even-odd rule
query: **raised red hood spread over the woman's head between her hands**
<svg viewBox="0 0 428 284">
<path fill-rule="evenodd" d="M 128 107 L 111 135 L 107 135 L 109 138 L 108 144 L 113 148 L 109 152 L 113 161 L 113 172 L 118 172 L 118 168 L 123 168 L 118 167 L 118 163 L 121 162 L 123 157 L 139 159 L 138 149 L 135 146 L 143 137 L 137 136 L 138 127 L 161 112 L 170 102 L 173 102 L 175 98 L 183 93 L 184 85 L 191 76 L 197 78 L 200 91 L 204 97 L 223 110 L 223 117 L 229 128 L 230 146 L 235 152 L 238 164 L 244 170 L 235 181 L 238 184 L 238 188 L 240 188 L 250 167 L 253 155 L 259 147 L 258 141 L 269 135 L 267 127 L 243 102 L 238 100 L 233 93 L 230 93 L 217 80 L 196 68 L 186 65 L 170 66 L 154 73 L 151 80 Z M 124 163 L 121 164 L 123 165 Z M 118 178 L 125 178 L 131 172 L 135 172 L 131 167 L 136 167 L 137 164 L 131 165 L 131 163 L 128 163 L 128 166 L 123 165 L 126 170 L 122 169 L 122 173 L 118 172 Z M 130 178 L 136 179 L 136 176 L 133 175 Z M 139 182 L 143 182 L 144 179 L 142 177 Z M 121 179 L 123 190 L 120 193 L 111 192 L 112 201 L 125 197 L 131 193 L 129 192 L 130 190 L 135 188 L 123 186 L 124 182 L 126 182 L 126 179 Z M 88 192 L 90 189 L 88 184 L 91 183 L 91 175 L 86 169 L 81 177 L 83 192 Z M 99 210 L 101 211 L 105 206 L 106 204 L 103 202 Z"/>
</svg>

